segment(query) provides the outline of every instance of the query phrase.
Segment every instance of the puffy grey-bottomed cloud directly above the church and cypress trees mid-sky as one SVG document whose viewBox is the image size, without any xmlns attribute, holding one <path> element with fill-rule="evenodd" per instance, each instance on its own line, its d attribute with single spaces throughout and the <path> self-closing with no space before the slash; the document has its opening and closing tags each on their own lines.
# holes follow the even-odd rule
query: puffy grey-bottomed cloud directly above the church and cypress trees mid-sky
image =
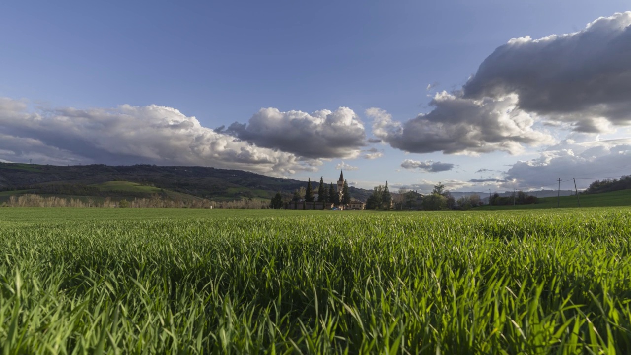
<svg viewBox="0 0 631 355">
<path fill-rule="evenodd" d="M 222 130 L 220 130 L 222 131 Z M 366 145 L 362 121 L 347 107 L 281 112 L 261 109 L 248 123 L 233 123 L 225 133 L 259 147 L 282 150 L 310 159 L 355 158 Z"/>
</svg>

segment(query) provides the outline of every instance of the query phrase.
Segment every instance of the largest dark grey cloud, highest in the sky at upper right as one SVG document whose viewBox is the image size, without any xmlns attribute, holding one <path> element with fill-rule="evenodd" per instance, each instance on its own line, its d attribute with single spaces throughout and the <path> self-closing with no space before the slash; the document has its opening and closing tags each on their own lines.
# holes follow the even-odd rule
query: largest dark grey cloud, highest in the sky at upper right
<svg viewBox="0 0 631 355">
<path fill-rule="evenodd" d="M 579 32 L 512 39 L 480 64 L 464 97 L 519 97 L 527 112 L 603 133 L 631 124 L 631 11 Z"/>
</svg>

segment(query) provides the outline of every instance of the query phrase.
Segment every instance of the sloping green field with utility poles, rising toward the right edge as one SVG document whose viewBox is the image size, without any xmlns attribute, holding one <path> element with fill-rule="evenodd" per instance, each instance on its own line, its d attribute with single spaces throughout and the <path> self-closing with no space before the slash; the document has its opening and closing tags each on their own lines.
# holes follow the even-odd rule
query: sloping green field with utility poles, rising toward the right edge
<svg viewBox="0 0 631 355">
<path fill-rule="evenodd" d="M 593 195 L 579 195 L 581 207 L 613 207 L 613 206 L 631 206 L 631 190 L 620 190 L 607 193 L 596 193 Z M 559 207 L 579 207 L 576 196 L 561 196 L 558 199 Z M 538 203 L 532 205 L 507 205 L 493 206 L 493 210 L 515 210 L 515 209 L 533 209 L 533 208 L 557 208 L 556 197 L 540 198 Z M 488 210 L 489 206 L 484 205 L 476 207 L 476 210 Z"/>
</svg>

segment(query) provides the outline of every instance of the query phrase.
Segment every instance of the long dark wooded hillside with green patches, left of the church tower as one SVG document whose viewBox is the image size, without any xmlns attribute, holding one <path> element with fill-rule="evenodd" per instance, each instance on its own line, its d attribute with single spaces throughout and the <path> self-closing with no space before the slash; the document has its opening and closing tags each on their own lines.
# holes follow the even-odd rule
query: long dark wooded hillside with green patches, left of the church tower
<svg viewBox="0 0 631 355">
<path fill-rule="evenodd" d="M 0 191 L 3 191 L 0 198 L 5 199 L 23 193 L 98 198 L 148 197 L 157 193 L 171 199 L 230 201 L 269 199 L 276 191 L 289 195 L 300 186 L 307 186 L 307 182 L 213 167 L 146 164 L 57 166 L 0 162 Z M 317 188 L 317 183 L 313 186 Z M 350 193 L 358 200 L 365 200 L 370 195 L 369 190 L 353 187 Z"/>
</svg>

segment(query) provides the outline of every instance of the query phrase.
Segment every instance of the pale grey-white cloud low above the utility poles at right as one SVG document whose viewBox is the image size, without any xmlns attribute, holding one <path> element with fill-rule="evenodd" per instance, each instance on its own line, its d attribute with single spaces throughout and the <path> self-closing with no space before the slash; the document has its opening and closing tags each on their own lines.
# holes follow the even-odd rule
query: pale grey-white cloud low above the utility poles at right
<svg viewBox="0 0 631 355">
<path fill-rule="evenodd" d="M 507 181 L 517 188 L 556 187 L 557 178 L 586 188 L 593 178 L 621 176 L 631 172 L 631 138 L 601 141 L 564 140 L 541 152 L 540 156 L 512 165 Z M 571 185 L 571 186 L 570 186 Z M 563 184 L 562 184 L 563 188 Z M 567 183 L 565 189 L 574 188 Z"/>
</svg>

